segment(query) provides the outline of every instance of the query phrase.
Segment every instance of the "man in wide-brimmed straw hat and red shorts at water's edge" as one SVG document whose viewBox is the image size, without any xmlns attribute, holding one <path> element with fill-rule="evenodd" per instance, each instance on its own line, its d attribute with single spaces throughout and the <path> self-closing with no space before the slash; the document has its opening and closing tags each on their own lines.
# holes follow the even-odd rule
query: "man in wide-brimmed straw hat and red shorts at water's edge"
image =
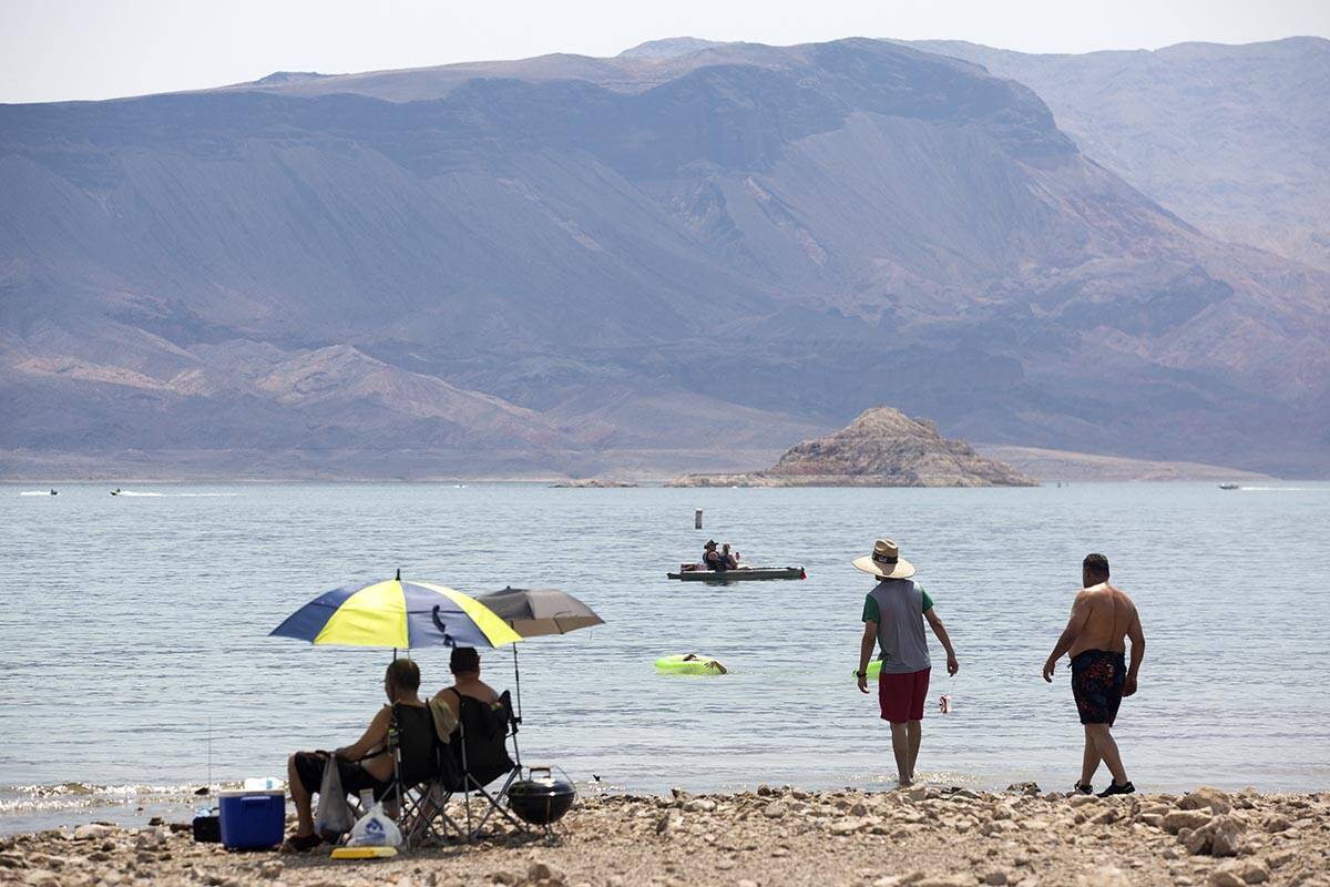
<svg viewBox="0 0 1330 887">
<path fill-rule="evenodd" d="M 928 696 L 928 641 L 923 622 L 947 650 L 947 674 L 960 670 L 947 629 L 932 610 L 932 598 L 922 585 L 910 581 L 914 565 L 900 557 L 890 539 L 879 539 L 872 555 L 857 557 L 855 569 L 872 573 L 880 581 L 863 601 L 863 641 L 859 644 L 859 692 L 868 692 L 868 660 L 872 648 L 882 649 L 882 672 L 878 676 L 878 702 L 882 719 L 891 722 L 891 750 L 896 755 L 900 785 L 914 782 L 914 765 L 923 735 L 923 703 Z"/>
</svg>

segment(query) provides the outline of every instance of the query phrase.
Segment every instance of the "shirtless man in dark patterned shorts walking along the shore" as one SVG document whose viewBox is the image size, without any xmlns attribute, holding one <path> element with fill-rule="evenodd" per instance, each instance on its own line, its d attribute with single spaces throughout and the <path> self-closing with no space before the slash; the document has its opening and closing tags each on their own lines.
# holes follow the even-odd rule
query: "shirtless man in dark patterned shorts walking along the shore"
<svg viewBox="0 0 1330 887">
<path fill-rule="evenodd" d="M 1057 660 L 1069 653 L 1072 697 L 1085 726 L 1085 751 L 1076 791 L 1093 791 L 1091 779 L 1103 761 L 1113 774 L 1113 783 L 1099 797 L 1132 794 L 1136 786 L 1127 778 L 1112 727 L 1123 697 L 1136 693 L 1136 677 L 1145 658 L 1141 617 L 1132 598 L 1109 584 L 1108 559 L 1103 555 L 1085 556 L 1081 584 L 1067 628 L 1044 662 L 1044 680 L 1052 682 Z M 1125 638 L 1132 640 L 1130 665 L 1125 661 Z"/>
</svg>

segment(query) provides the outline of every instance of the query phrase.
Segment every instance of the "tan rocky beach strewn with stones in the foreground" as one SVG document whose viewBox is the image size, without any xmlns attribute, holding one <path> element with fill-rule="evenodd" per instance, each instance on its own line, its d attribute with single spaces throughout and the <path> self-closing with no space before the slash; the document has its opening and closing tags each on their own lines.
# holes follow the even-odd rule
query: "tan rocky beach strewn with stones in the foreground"
<svg viewBox="0 0 1330 887">
<path fill-rule="evenodd" d="M 1330 886 L 1330 793 L 1111 799 L 914 787 L 587 798 L 553 842 L 497 835 L 380 862 L 226 852 L 184 823 L 0 838 L 0 883 L 340 887 Z"/>
</svg>

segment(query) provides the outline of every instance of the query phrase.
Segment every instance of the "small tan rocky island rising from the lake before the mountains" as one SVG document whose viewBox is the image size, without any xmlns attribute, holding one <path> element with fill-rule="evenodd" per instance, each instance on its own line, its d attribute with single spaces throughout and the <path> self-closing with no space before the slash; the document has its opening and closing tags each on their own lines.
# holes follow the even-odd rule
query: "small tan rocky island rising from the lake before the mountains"
<svg viewBox="0 0 1330 887">
<path fill-rule="evenodd" d="M 1033 487 L 1011 465 L 964 440 L 947 440 L 927 419 L 891 407 L 864 410 L 841 431 L 786 451 L 766 471 L 689 475 L 674 487 Z"/>
</svg>

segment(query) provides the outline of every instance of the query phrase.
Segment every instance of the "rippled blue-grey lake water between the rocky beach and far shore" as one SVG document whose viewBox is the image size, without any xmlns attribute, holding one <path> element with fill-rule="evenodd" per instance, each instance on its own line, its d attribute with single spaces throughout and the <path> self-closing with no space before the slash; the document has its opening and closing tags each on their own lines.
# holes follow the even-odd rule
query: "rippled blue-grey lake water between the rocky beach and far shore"
<svg viewBox="0 0 1330 887">
<path fill-rule="evenodd" d="M 527 763 L 591 790 L 887 786 L 888 730 L 851 676 L 872 580 L 849 561 L 879 535 L 918 567 L 962 662 L 951 680 L 935 668 L 924 778 L 1076 778 L 1068 673 L 1049 686 L 1040 668 L 1081 557 L 1100 551 L 1148 638 L 1116 729 L 1136 785 L 1330 787 L 1330 484 L 128 489 L 141 495 L 0 487 L 0 831 L 141 818 L 209 775 L 285 777 L 290 751 L 351 742 L 382 702 L 391 652 L 266 634 L 321 592 L 399 567 L 468 593 L 557 586 L 604 617 L 521 645 Z M 668 581 L 709 536 L 809 577 Z M 653 661 L 677 652 L 733 673 L 657 674 Z M 447 650 L 414 656 L 427 689 L 448 682 Z M 511 685 L 508 650 L 483 660 L 487 680 Z"/>
</svg>

